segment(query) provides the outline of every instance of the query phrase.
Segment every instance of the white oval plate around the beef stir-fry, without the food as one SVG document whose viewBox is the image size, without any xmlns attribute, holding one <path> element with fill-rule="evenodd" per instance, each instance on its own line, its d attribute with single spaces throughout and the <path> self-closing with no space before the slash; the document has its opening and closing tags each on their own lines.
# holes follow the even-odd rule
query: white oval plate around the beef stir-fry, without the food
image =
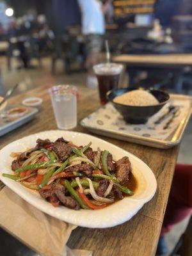
<svg viewBox="0 0 192 256">
<path fill-rule="evenodd" d="M 19 182 L 15 182 L 14 180 L 2 176 L 2 173 L 12 173 L 11 163 L 13 159 L 10 157 L 12 152 L 23 152 L 26 148 L 34 147 L 38 138 L 49 138 L 54 141 L 62 136 L 76 145 L 86 145 L 92 141 L 93 150 L 97 150 L 97 147 L 100 147 L 102 150 L 106 149 L 113 154 L 113 159 L 115 160 L 118 160 L 123 156 L 128 156 L 132 164 L 132 172 L 138 180 L 138 188 L 136 189 L 134 196 L 126 196 L 123 200 L 120 200 L 115 204 L 95 211 L 83 209 L 75 211 L 63 206 L 55 208 L 52 207 L 49 202 L 41 198 L 35 191 L 25 188 Z M 134 216 L 134 214 L 136 214 L 156 193 L 156 178 L 147 164 L 143 163 L 138 157 L 122 148 L 80 132 L 45 131 L 24 137 L 20 140 L 13 141 L 4 147 L 0 151 L 0 159 L 0 178 L 6 186 L 12 189 L 29 204 L 40 209 L 40 211 L 81 227 L 108 228 L 122 224 L 125 221 L 130 220 L 132 216 Z"/>
</svg>

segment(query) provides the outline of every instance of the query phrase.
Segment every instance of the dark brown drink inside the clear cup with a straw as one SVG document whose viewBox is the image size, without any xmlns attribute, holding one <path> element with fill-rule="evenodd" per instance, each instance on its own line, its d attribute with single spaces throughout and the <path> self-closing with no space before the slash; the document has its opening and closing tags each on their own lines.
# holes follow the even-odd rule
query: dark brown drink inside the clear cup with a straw
<svg viewBox="0 0 192 256">
<path fill-rule="evenodd" d="M 99 75 L 97 74 L 98 86 L 99 86 L 99 95 L 100 95 L 100 103 L 102 105 L 108 102 L 106 98 L 106 93 L 109 90 L 114 88 L 118 88 L 120 74 L 115 75 Z"/>
</svg>

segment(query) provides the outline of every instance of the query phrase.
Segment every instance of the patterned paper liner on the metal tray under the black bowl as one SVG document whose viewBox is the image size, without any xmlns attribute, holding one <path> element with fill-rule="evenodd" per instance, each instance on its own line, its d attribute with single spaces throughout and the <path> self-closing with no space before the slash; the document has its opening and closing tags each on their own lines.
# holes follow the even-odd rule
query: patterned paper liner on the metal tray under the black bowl
<svg viewBox="0 0 192 256">
<path fill-rule="evenodd" d="M 168 113 L 170 107 L 177 110 L 175 111 L 175 115 L 168 115 L 159 124 L 156 124 L 156 121 L 159 120 L 161 116 Z M 191 108 L 191 102 L 189 100 L 172 99 L 156 115 L 149 118 L 146 124 L 135 125 L 127 124 L 122 115 L 120 115 L 113 107 L 113 104 L 109 102 L 84 118 L 81 124 L 92 129 L 108 129 L 108 131 L 124 132 L 157 140 L 166 140 L 178 127 L 183 116 L 187 115 L 189 108 Z"/>
</svg>

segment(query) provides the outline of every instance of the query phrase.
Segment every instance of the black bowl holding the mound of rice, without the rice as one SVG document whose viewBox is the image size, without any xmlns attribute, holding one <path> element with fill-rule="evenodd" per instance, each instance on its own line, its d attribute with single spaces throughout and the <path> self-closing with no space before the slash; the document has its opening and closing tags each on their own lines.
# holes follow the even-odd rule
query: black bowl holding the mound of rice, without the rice
<svg viewBox="0 0 192 256">
<path fill-rule="evenodd" d="M 116 96 L 131 92 L 132 90 L 137 90 L 137 88 L 118 88 L 107 93 L 108 100 L 111 101 L 116 110 L 124 116 L 125 121 L 130 124 L 145 124 L 148 118 L 155 115 L 170 99 L 168 93 L 159 90 L 147 90 L 147 92 L 152 93 L 152 95 L 156 97 L 159 104 L 154 106 L 128 106 L 113 102 Z"/>
</svg>

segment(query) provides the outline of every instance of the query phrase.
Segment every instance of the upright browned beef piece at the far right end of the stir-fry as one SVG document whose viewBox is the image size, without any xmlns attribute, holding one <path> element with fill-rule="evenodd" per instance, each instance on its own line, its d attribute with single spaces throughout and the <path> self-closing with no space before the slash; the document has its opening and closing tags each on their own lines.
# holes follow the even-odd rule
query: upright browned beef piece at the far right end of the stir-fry
<svg viewBox="0 0 192 256">
<path fill-rule="evenodd" d="M 115 163 L 116 177 L 120 180 L 120 184 L 129 181 L 129 172 L 131 172 L 131 163 L 129 157 L 124 156 Z"/>
</svg>

